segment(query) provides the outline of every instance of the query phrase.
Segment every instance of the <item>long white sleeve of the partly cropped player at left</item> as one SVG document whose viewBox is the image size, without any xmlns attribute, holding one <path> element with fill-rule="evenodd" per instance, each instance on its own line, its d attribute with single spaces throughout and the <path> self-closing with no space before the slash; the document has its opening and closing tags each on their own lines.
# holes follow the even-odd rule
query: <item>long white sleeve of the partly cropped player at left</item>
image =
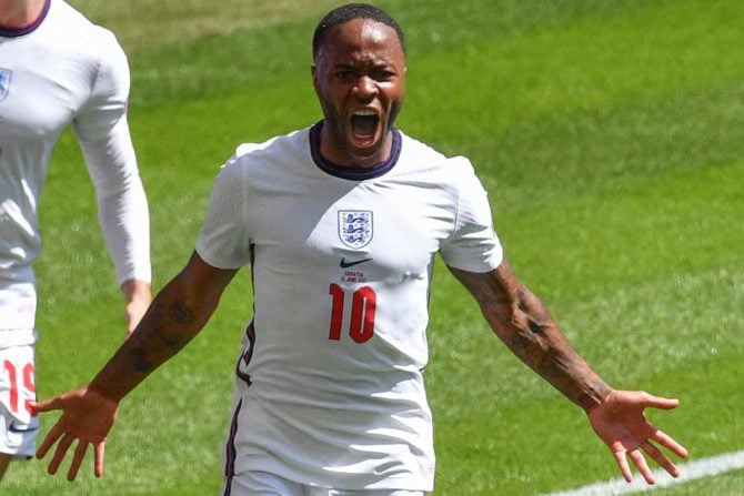
<svg viewBox="0 0 744 496">
<path fill-rule="evenodd" d="M 117 280 L 150 282 L 148 201 L 127 122 L 129 63 L 113 34 L 103 34 L 98 78 L 73 128 L 95 186 L 99 222 Z"/>
</svg>

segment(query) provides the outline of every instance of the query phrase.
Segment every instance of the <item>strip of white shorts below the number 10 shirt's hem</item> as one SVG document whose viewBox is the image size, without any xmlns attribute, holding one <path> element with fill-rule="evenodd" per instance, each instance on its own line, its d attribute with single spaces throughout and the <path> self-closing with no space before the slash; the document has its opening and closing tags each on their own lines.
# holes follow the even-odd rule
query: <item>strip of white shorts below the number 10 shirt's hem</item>
<svg viewBox="0 0 744 496">
<path fill-rule="evenodd" d="M 225 478 L 221 496 L 424 496 L 421 490 L 344 490 L 298 484 L 265 472 L 249 472 Z"/>
</svg>

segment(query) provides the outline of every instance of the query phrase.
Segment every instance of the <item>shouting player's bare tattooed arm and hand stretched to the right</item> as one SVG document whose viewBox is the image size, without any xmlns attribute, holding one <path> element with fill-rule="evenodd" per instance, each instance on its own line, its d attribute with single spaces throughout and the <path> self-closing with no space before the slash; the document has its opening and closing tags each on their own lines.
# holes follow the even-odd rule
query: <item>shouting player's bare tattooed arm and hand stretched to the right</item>
<svg viewBox="0 0 744 496">
<path fill-rule="evenodd" d="M 676 466 L 650 442 L 682 457 L 687 456 L 687 452 L 651 425 L 644 414 L 646 407 L 674 408 L 676 399 L 615 391 L 605 384 L 571 346 L 545 305 L 516 279 L 506 261 L 487 273 L 450 270 L 475 297 L 491 328 L 506 346 L 586 412 L 626 480 L 632 479 L 630 457 L 646 482 L 654 483 L 641 451 L 673 476 L 678 475 Z"/>
</svg>

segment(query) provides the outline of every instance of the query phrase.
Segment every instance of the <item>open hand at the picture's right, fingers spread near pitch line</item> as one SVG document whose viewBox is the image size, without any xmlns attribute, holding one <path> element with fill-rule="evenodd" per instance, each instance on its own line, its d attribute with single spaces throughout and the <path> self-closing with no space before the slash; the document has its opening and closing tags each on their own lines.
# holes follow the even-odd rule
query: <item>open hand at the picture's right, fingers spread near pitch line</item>
<svg viewBox="0 0 744 496">
<path fill-rule="evenodd" d="M 656 482 L 644 453 L 673 477 L 680 475 L 680 469 L 652 442 L 682 458 L 687 457 L 687 449 L 654 427 L 644 413 L 647 407 L 672 409 L 678 404 L 678 399 L 654 396 L 642 391 L 612 391 L 599 406 L 587 413 L 594 432 L 610 447 L 629 483 L 633 480 L 633 474 L 627 457 L 633 460 L 646 483 Z"/>
</svg>

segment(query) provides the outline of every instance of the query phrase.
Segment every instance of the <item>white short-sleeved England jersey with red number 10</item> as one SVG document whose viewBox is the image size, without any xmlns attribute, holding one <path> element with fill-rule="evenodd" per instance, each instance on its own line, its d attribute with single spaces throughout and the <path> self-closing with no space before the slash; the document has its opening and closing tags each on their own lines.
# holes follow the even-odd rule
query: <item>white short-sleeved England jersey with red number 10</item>
<svg viewBox="0 0 744 496">
<path fill-rule="evenodd" d="M 466 159 L 400 131 L 386 162 L 334 166 L 320 125 L 239 148 L 197 243 L 207 263 L 253 275 L 228 475 L 431 490 L 433 261 L 499 266 L 486 194 Z"/>
</svg>

